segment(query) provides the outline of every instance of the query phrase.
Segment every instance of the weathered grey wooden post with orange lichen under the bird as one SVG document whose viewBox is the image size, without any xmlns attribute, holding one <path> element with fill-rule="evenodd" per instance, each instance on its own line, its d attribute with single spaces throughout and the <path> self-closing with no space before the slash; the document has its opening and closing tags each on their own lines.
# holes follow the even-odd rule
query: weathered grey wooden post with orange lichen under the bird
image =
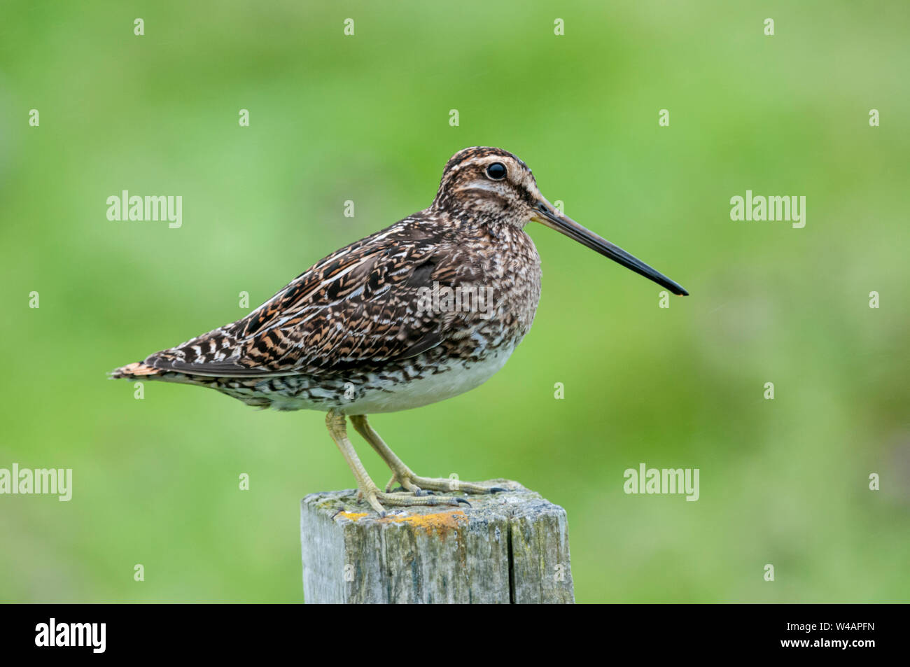
<svg viewBox="0 0 910 667">
<path fill-rule="evenodd" d="M 384 519 L 356 490 L 311 493 L 300 502 L 305 601 L 574 602 L 565 510 L 518 482 L 483 483 L 506 490 Z"/>
</svg>

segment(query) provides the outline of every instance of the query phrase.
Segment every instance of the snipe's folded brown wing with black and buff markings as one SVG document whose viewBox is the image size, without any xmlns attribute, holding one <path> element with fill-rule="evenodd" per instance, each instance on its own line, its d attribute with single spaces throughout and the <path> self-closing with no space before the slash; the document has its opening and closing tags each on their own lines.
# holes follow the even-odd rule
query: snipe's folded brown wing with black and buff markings
<svg viewBox="0 0 910 667">
<path fill-rule="evenodd" d="M 246 318 L 144 363 L 218 377 L 318 375 L 439 345 L 476 314 L 428 309 L 421 288 L 477 284 L 479 268 L 458 257 L 456 244 L 408 223 L 341 248 Z"/>
</svg>

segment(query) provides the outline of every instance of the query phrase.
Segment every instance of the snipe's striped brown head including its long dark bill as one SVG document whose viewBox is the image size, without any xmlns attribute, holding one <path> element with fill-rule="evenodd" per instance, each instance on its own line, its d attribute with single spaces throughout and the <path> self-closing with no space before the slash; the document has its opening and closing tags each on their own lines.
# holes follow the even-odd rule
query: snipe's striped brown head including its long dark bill
<svg viewBox="0 0 910 667">
<path fill-rule="evenodd" d="M 689 293 L 675 281 L 634 258 L 605 238 L 563 215 L 541 195 L 531 169 L 509 151 L 493 147 L 463 148 L 442 171 L 433 208 L 481 223 L 523 228 L 532 220 L 570 237 L 604 257 L 653 280 L 673 294 Z"/>
</svg>

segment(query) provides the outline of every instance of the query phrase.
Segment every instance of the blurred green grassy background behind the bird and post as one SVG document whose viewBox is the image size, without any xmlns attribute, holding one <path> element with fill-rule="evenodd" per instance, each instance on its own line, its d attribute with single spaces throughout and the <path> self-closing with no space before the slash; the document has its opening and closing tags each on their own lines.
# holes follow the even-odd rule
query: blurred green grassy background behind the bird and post
<svg viewBox="0 0 910 667">
<path fill-rule="evenodd" d="M 301 601 L 298 501 L 353 484 L 322 415 L 152 382 L 136 400 L 106 371 L 428 206 L 475 145 L 692 296 L 658 308 L 529 227 L 534 328 L 480 389 L 374 419 L 401 458 L 563 506 L 579 601 L 910 600 L 908 5 L 18 5 L 0 467 L 72 468 L 74 497 L 0 497 L 0 600 Z M 124 189 L 181 195 L 183 227 L 108 221 Z M 731 221 L 746 189 L 804 195 L 806 226 Z M 624 494 L 640 462 L 699 468 L 701 500 Z"/>
</svg>

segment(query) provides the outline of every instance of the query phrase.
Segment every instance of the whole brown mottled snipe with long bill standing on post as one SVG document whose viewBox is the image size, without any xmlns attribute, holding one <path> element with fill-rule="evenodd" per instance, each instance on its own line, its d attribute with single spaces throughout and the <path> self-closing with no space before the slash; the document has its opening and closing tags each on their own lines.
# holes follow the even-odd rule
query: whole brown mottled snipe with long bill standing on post
<svg viewBox="0 0 910 667">
<path fill-rule="evenodd" d="M 472 147 L 446 164 L 429 208 L 320 259 L 247 317 L 111 375 L 210 387 L 263 408 L 326 411 L 329 434 L 380 515 L 383 505 L 465 502 L 453 488 L 499 490 L 416 475 L 367 416 L 450 399 L 502 368 L 541 297 L 541 258 L 524 231 L 531 220 L 687 294 L 553 207 L 518 157 Z M 467 298 L 452 298 L 459 294 Z M 385 491 L 354 451 L 347 418 L 391 469 Z M 403 490 L 392 492 L 396 481 Z"/>
</svg>

